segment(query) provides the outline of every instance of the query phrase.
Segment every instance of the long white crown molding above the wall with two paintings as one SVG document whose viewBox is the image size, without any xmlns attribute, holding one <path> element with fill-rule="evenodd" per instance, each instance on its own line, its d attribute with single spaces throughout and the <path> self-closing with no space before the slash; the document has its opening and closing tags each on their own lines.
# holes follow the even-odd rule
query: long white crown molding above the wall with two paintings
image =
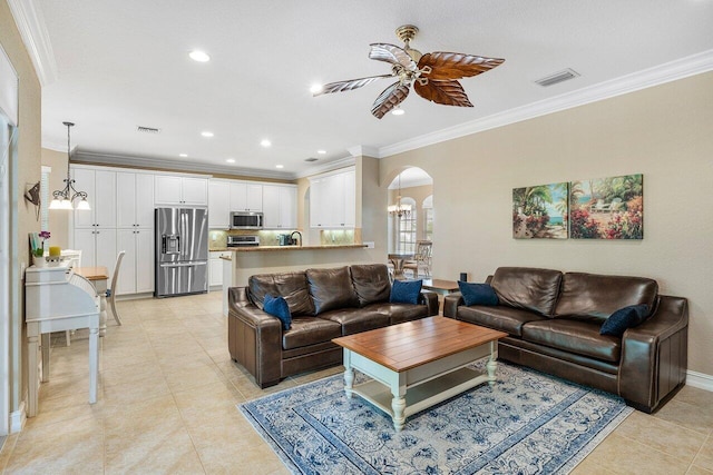
<svg viewBox="0 0 713 475">
<path fill-rule="evenodd" d="M 586 103 L 626 95 L 641 89 L 651 88 L 690 76 L 713 70 L 713 50 L 703 51 L 686 58 L 644 69 L 621 78 L 567 92 L 554 98 L 544 99 L 527 106 L 517 107 L 492 116 L 465 122 L 436 132 L 426 133 L 414 139 L 403 140 L 379 149 L 378 158 L 390 157 L 404 151 L 414 150 L 433 144 L 452 140 L 459 137 L 478 133 L 510 123 L 520 122 Z"/>
</svg>

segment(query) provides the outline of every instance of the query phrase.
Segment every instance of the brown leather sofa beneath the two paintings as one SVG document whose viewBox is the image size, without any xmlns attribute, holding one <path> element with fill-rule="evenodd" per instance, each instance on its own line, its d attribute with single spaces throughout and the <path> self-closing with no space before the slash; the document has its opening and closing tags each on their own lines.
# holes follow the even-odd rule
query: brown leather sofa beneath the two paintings
<svg viewBox="0 0 713 475">
<path fill-rule="evenodd" d="M 507 331 L 498 357 L 622 396 L 651 413 L 686 380 L 688 307 L 642 277 L 500 267 L 488 277 L 499 304 L 467 307 L 460 293 L 443 315 Z M 619 338 L 599 335 L 619 308 L 646 304 L 651 316 Z"/>
</svg>

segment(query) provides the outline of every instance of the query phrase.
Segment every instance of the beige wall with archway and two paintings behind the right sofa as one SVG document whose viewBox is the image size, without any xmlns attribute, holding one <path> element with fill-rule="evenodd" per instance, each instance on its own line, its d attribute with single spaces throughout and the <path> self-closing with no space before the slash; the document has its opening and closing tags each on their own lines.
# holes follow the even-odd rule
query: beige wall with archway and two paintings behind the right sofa
<svg viewBox="0 0 713 475">
<path fill-rule="evenodd" d="M 389 157 L 433 177 L 433 275 L 498 266 L 646 276 L 688 298 L 688 369 L 713 375 L 713 72 Z M 644 239 L 516 240 L 511 191 L 644 174 Z"/>
</svg>

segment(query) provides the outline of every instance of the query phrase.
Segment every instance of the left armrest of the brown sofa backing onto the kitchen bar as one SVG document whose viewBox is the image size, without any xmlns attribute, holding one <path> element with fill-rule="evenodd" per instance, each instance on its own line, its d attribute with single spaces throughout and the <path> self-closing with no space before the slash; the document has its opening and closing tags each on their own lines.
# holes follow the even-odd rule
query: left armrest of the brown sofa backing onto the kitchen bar
<svg viewBox="0 0 713 475">
<path fill-rule="evenodd" d="M 245 287 L 228 289 L 227 345 L 231 358 L 254 377 L 260 387 L 282 376 L 282 323 L 247 298 Z"/>
</svg>

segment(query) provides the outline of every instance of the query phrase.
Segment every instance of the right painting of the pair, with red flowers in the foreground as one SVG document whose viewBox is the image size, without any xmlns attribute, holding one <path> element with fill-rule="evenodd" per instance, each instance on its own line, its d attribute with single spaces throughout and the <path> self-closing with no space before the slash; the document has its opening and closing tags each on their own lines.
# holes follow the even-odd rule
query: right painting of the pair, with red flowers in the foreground
<svg viewBox="0 0 713 475">
<path fill-rule="evenodd" d="M 569 237 L 643 239 L 644 176 L 624 175 L 572 181 Z"/>
</svg>

